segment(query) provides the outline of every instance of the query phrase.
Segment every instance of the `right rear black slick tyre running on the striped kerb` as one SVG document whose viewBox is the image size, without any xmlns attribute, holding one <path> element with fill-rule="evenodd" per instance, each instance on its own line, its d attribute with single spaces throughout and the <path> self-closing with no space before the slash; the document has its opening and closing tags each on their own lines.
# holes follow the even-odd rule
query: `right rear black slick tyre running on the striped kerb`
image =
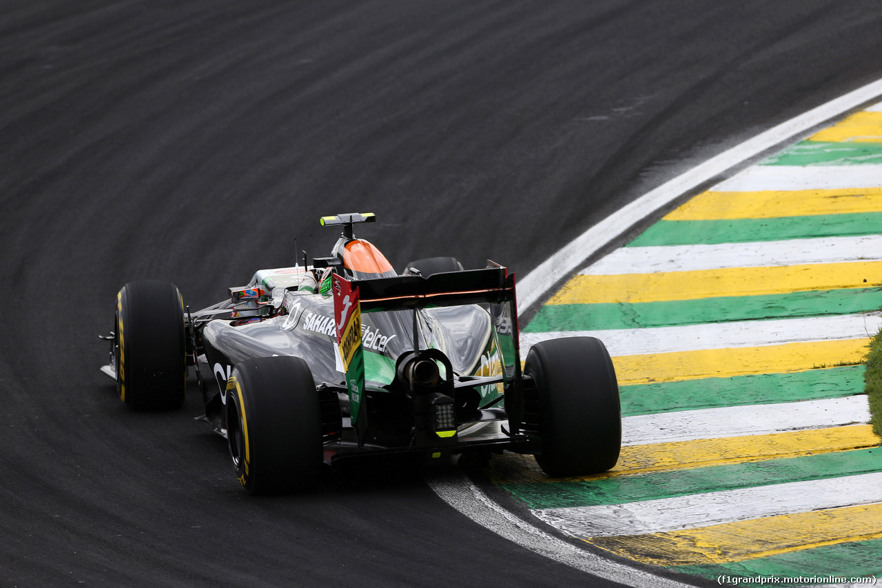
<svg viewBox="0 0 882 588">
<path fill-rule="evenodd" d="M 533 376 L 539 401 L 541 455 L 549 476 L 582 476 L 616 465 L 622 412 L 616 371 L 594 337 L 536 343 L 524 373 Z"/>
</svg>

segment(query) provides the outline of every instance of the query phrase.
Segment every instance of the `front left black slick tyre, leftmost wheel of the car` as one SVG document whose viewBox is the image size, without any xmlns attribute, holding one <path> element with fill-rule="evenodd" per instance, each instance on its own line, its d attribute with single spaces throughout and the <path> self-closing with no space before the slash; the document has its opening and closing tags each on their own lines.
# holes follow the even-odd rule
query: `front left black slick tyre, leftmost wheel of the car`
<svg viewBox="0 0 882 588">
<path fill-rule="evenodd" d="M 116 295 L 116 391 L 136 410 L 174 409 L 187 388 L 183 300 L 173 283 L 131 282 Z"/>
</svg>

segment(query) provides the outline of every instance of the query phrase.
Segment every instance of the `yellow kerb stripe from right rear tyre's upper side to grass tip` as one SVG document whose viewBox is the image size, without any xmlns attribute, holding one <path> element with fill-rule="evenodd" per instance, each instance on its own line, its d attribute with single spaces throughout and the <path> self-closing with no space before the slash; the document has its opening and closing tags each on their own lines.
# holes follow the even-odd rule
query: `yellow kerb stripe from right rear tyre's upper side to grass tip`
<svg viewBox="0 0 882 588">
<path fill-rule="evenodd" d="M 751 373 L 786 373 L 858 364 L 870 339 L 835 339 L 809 343 L 784 343 L 761 347 L 734 347 L 700 351 L 675 351 L 612 358 L 620 386 L 662 381 L 730 378 Z"/>
</svg>

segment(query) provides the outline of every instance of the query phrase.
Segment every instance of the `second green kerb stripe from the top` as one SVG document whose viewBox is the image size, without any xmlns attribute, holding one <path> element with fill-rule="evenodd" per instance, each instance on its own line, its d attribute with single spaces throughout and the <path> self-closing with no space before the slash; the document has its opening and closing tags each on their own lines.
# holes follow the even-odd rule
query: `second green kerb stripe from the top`
<svg viewBox="0 0 882 588">
<path fill-rule="evenodd" d="M 882 226 L 882 212 L 720 221 L 662 220 L 626 246 L 715 245 L 811 237 L 856 237 L 878 235 L 880 226 Z"/>
</svg>

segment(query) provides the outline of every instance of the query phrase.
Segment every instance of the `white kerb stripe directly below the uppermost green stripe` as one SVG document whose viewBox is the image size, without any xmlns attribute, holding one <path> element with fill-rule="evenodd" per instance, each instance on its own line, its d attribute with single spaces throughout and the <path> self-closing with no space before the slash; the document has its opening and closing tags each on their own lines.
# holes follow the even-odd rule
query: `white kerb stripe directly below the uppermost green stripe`
<svg viewBox="0 0 882 588">
<path fill-rule="evenodd" d="M 882 187 L 882 164 L 789 167 L 757 165 L 711 188 L 713 192 L 839 190 Z"/>
</svg>

